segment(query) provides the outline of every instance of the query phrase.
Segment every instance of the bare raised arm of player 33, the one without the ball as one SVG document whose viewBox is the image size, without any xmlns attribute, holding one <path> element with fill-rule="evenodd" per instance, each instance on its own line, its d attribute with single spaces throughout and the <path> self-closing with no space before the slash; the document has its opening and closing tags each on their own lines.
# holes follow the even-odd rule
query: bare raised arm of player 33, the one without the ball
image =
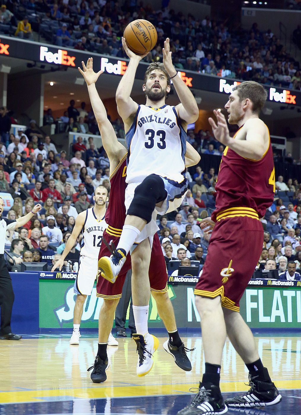
<svg viewBox="0 0 301 415">
<path fill-rule="evenodd" d="M 177 73 L 177 71 L 172 64 L 172 52 L 170 52 L 168 37 L 164 42 L 164 48 L 162 51 L 165 69 L 168 72 L 170 78 L 172 78 Z M 187 124 L 197 121 L 199 117 L 199 108 L 197 106 L 196 100 L 194 99 L 194 96 L 192 95 L 192 92 L 179 76 L 172 78 L 172 83 L 175 86 L 175 90 L 181 101 L 181 103 L 175 107 L 180 119 L 185 121 Z"/>
</svg>

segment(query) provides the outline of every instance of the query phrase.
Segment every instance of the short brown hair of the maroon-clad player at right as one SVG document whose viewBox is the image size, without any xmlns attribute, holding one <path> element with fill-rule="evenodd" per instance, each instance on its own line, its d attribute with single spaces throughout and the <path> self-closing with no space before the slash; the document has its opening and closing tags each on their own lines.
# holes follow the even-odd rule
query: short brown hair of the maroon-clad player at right
<svg viewBox="0 0 301 415">
<path fill-rule="evenodd" d="M 237 90 L 239 100 L 245 100 L 249 98 L 252 101 L 253 107 L 252 112 L 257 112 L 258 114 L 265 106 L 265 101 L 267 100 L 267 91 L 263 88 L 262 85 L 254 81 L 245 81 L 236 85 L 233 88 L 233 91 Z"/>
</svg>

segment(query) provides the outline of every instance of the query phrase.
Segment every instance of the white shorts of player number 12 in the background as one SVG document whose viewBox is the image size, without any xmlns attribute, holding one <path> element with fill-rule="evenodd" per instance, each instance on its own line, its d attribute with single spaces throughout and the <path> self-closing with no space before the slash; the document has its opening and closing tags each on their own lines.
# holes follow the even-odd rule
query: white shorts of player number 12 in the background
<svg viewBox="0 0 301 415">
<path fill-rule="evenodd" d="M 78 275 L 74 281 L 74 293 L 91 295 L 98 269 L 98 258 L 92 259 L 81 255 L 78 264 Z"/>
</svg>

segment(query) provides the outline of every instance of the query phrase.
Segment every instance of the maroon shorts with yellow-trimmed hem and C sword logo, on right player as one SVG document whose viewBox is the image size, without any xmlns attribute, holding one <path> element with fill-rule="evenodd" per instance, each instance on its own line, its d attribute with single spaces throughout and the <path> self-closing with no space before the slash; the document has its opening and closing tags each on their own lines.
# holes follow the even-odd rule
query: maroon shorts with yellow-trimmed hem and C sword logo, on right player
<svg viewBox="0 0 301 415">
<path fill-rule="evenodd" d="M 263 228 L 258 216 L 218 217 L 194 294 L 220 295 L 223 307 L 239 312 L 240 298 L 261 255 Z"/>
</svg>

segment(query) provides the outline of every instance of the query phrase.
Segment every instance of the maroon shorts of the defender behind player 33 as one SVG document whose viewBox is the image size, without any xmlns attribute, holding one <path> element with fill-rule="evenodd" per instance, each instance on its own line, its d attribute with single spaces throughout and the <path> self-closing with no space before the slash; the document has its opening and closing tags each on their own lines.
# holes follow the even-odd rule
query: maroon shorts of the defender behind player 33
<svg viewBox="0 0 301 415">
<path fill-rule="evenodd" d="M 110 229 L 107 229 L 110 232 Z M 121 230 L 120 230 L 121 233 Z M 109 244 L 111 241 L 117 247 L 119 242 L 119 237 L 111 235 L 104 231 L 102 239 L 105 239 Z M 98 258 L 102 256 L 110 256 L 111 252 L 107 248 L 105 244 L 101 244 L 100 253 Z M 131 269 L 131 255 L 128 254 L 126 257 L 126 261 L 124 266 L 122 267 L 117 280 L 114 284 L 107 281 L 100 275 L 97 278 L 96 284 L 96 295 L 97 297 L 107 298 L 107 299 L 114 299 L 114 298 L 121 298 L 122 287 L 124 285 L 124 281 L 126 278 L 126 273 Z M 160 246 L 160 241 L 158 234 L 154 235 L 153 239 L 153 248 L 152 253 L 150 256 L 150 266 L 148 270 L 148 276 L 150 281 L 150 291 L 154 291 L 156 293 L 164 293 L 167 291 L 167 269 L 165 264 L 165 259 L 163 256 L 163 252 Z"/>
</svg>

